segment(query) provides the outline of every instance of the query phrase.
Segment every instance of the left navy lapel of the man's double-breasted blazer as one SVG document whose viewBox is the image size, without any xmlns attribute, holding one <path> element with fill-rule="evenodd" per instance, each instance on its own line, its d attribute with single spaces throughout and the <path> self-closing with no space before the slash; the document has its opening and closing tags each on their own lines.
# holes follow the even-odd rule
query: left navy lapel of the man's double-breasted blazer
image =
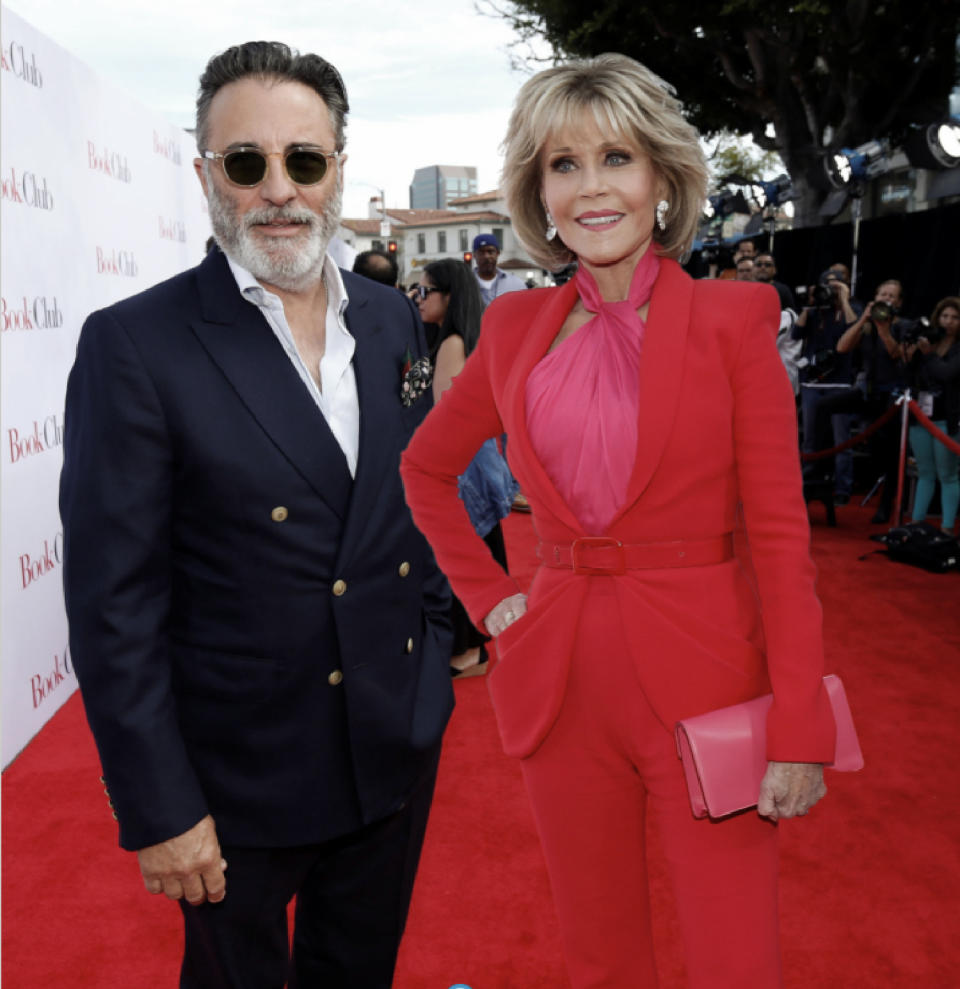
<svg viewBox="0 0 960 989">
<path fill-rule="evenodd" d="M 278 449 L 344 518 L 352 486 L 346 458 L 280 342 L 240 295 L 222 254 L 209 255 L 197 279 L 202 318 L 194 333 Z"/>
</svg>

